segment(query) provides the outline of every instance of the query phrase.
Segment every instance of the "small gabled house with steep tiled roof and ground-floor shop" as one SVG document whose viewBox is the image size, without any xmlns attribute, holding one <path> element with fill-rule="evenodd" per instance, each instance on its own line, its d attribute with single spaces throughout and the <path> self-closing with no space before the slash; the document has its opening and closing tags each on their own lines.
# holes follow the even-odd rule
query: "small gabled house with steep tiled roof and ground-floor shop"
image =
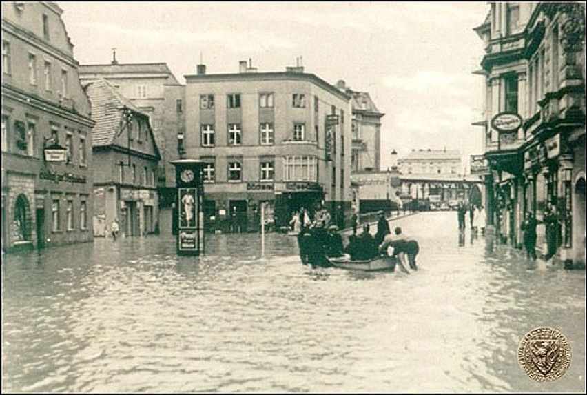
<svg viewBox="0 0 587 395">
<path fill-rule="evenodd" d="M 153 233 L 158 223 L 156 187 L 159 155 L 142 112 L 105 79 L 85 82 L 96 121 L 94 151 L 94 234 L 107 236 L 118 219 L 121 234 Z"/>
</svg>

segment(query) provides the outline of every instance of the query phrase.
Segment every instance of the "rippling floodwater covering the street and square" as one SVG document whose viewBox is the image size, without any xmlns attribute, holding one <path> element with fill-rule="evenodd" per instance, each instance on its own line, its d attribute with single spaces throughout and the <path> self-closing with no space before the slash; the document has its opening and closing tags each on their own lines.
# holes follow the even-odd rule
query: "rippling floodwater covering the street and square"
<svg viewBox="0 0 587 395">
<path fill-rule="evenodd" d="M 296 240 L 96 239 L 3 256 L 3 392 L 584 392 L 585 272 L 457 231 L 455 212 L 391 222 L 418 272 L 311 270 Z M 372 230 L 374 232 L 374 230 Z M 556 327 L 573 353 L 553 383 L 517 364 Z"/>
</svg>

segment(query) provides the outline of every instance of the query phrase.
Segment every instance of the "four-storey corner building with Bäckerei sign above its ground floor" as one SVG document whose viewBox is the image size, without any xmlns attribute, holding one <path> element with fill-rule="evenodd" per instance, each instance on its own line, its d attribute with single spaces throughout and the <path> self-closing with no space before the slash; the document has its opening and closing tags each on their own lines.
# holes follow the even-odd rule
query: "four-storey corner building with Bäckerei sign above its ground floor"
<svg viewBox="0 0 587 395">
<path fill-rule="evenodd" d="M 351 201 L 349 95 L 300 66 L 198 70 L 185 76 L 183 141 L 187 158 L 206 162 L 207 221 L 256 230 L 267 203 L 278 228 L 300 207 L 321 205 L 342 225 Z"/>
</svg>

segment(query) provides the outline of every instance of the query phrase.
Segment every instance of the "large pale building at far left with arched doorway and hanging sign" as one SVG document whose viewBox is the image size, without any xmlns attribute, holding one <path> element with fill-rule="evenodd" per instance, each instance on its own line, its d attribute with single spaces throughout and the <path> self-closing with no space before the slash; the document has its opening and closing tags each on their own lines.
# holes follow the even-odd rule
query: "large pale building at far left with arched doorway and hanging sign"
<svg viewBox="0 0 587 395">
<path fill-rule="evenodd" d="M 6 251 L 93 240 L 94 122 L 62 13 L 53 2 L 2 3 Z"/>
</svg>

